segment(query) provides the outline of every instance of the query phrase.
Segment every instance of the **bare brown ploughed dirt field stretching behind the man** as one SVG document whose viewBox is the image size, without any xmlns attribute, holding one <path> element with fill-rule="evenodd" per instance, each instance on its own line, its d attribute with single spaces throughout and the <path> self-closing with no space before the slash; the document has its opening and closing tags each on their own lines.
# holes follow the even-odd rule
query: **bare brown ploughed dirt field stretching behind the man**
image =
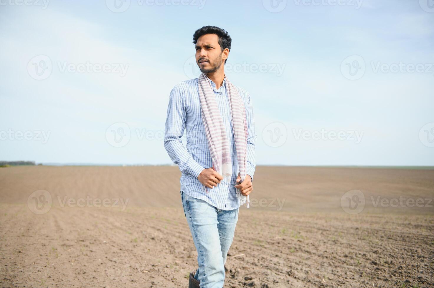
<svg viewBox="0 0 434 288">
<path fill-rule="evenodd" d="M 180 175 L 0 168 L 1 286 L 187 287 Z M 434 286 L 434 170 L 258 166 L 253 185 L 225 287 Z"/>
</svg>

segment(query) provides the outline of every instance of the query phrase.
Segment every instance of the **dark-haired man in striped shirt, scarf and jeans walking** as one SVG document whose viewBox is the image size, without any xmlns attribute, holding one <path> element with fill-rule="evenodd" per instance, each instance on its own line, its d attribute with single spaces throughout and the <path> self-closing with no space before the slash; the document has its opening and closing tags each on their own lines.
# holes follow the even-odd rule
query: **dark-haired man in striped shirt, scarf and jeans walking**
<svg viewBox="0 0 434 288">
<path fill-rule="evenodd" d="M 249 207 L 253 191 L 253 106 L 250 94 L 224 73 L 231 41 L 216 26 L 197 29 L 193 43 L 201 76 L 177 84 L 169 97 L 164 148 L 182 172 L 181 201 L 199 266 L 190 273 L 189 287 L 223 287 L 238 210 L 244 203 Z"/>
</svg>

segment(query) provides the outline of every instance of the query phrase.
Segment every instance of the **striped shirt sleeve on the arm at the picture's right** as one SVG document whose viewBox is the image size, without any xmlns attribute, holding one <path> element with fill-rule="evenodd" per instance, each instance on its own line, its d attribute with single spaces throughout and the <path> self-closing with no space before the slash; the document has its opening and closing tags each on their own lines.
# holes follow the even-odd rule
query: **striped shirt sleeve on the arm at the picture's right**
<svg viewBox="0 0 434 288">
<path fill-rule="evenodd" d="M 246 122 L 247 122 L 247 171 L 253 182 L 253 174 L 256 169 L 256 155 L 255 155 L 255 143 L 256 143 L 256 131 L 255 121 L 253 116 L 253 104 L 250 98 L 250 94 L 247 93 L 247 106 L 246 106 Z"/>
</svg>

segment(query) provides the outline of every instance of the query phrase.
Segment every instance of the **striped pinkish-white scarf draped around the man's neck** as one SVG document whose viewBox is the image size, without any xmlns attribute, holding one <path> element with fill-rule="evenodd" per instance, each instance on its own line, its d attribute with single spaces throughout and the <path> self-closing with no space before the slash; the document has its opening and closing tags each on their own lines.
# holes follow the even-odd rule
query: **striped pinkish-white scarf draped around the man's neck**
<svg viewBox="0 0 434 288">
<path fill-rule="evenodd" d="M 224 76 L 224 80 L 229 98 L 233 137 L 237 151 L 238 167 L 240 169 L 240 183 L 242 183 L 246 178 L 247 135 L 249 134 L 247 132 L 246 110 L 237 88 L 227 80 L 226 75 Z M 225 180 L 230 180 L 233 174 L 230 157 L 231 149 L 213 87 L 209 78 L 204 73 L 201 73 L 199 76 L 198 85 L 202 108 L 202 122 L 204 123 L 213 169 L 222 175 Z M 207 187 L 205 185 L 202 186 L 202 191 L 208 193 Z M 244 196 L 241 194 L 240 189 L 237 188 L 236 196 L 241 205 L 247 202 L 247 208 L 249 208 L 249 195 L 247 197 Z"/>
</svg>

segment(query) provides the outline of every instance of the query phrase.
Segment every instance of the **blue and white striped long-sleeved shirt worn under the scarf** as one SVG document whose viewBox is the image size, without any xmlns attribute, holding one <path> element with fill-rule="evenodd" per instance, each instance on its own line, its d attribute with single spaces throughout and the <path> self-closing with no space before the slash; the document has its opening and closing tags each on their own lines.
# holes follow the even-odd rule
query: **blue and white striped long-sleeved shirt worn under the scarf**
<svg viewBox="0 0 434 288">
<path fill-rule="evenodd" d="M 216 89 L 216 85 L 210 79 L 214 88 L 217 104 L 226 127 L 226 135 L 231 147 L 232 174 L 230 183 L 220 181 L 217 187 L 208 188 L 208 193 L 202 190 L 202 183 L 197 179 L 205 168 L 212 167 L 207 137 L 201 116 L 201 102 L 198 91 L 198 78 L 182 81 L 171 91 L 167 118 L 164 129 L 164 148 L 168 152 L 172 162 L 178 164 L 182 175 L 180 178 L 181 191 L 187 195 L 202 199 L 222 210 L 233 210 L 240 207 L 240 200 L 236 197 L 236 188 L 233 187 L 240 169 L 238 168 L 235 140 L 233 138 L 232 120 L 230 118 L 230 106 L 227 97 L 226 83 Z M 247 120 L 247 174 L 253 181 L 256 168 L 255 142 L 256 133 L 253 120 L 253 106 L 250 94 L 241 87 L 234 85 L 244 101 Z M 182 145 L 181 137 L 187 131 L 187 149 Z"/>
</svg>

